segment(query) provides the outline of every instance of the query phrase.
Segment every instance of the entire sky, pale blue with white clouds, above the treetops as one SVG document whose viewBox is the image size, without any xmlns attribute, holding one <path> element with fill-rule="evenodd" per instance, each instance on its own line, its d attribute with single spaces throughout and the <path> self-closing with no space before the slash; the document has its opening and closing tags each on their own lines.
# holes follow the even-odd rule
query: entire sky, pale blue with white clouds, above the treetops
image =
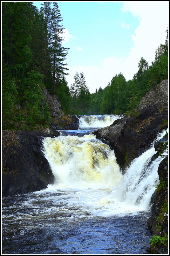
<svg viewBox="0 0 170 256">
<path fill-rule="evenodd" d="M 57 1 L 63 27 L 69 86 L 83 71 L 91 92 L 106 87 L 120 72 L 126 80 L 138 71 L 141 57 L 148 64 L 165 43 L 169 1 Z M 34 2 L 39 9 L 41 1 Z"/>
</svg>

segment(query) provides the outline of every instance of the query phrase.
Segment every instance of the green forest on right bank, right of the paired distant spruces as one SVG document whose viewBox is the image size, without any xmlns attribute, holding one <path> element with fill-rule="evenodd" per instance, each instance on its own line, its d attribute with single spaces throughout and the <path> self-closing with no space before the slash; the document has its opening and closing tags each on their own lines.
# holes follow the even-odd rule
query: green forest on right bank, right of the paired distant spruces
<svg viewBox="0 0 170 256">
<path fill-rule="evenodd" d="M 155 51 L 155 60 L 151 66 L 141 58 L 138 72 L 133 79 L 126 81 L 123 74 L 115 74 L 105 89 L 91 95 L 91 114 L 122 114 L 135 115 L 141 98 L 147 91 L 164 79 L 168 79 L 168 29 L 165 44 Z"/>
</svg>

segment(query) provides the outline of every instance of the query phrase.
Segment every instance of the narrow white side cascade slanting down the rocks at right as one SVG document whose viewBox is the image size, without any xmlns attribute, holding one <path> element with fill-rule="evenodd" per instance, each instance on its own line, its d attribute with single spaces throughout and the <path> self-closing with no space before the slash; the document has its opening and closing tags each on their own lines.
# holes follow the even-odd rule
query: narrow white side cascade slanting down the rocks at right
<svg viewBox="0 0 170 256">
<path fill-rule="evenodd" d="M 134 159 L 131 165 L 126 168 L 122 179 L 122 201 L 141 207 L 147 210 L 150 204 L 150 198 L 159 182 L 158 167 L 160 162 L 167 156 L 165 150 L 161 156 L 154 159 L 156 154 L 154 143 L 163 138 L 166 130 L 158 134 L 152 143 L 150 149 L 146 150 L 138 158 Z"/>
</svg>

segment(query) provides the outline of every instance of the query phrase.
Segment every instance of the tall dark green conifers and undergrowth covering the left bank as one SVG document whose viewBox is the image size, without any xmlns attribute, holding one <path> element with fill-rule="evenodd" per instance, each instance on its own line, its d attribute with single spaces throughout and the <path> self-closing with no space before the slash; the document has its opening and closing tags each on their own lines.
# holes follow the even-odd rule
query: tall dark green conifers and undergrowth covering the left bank
<svg viewBox="0 0 170 256">
<path fill-rule="evenodd" d="M 50 124 L 45 86 L 68 102 L 64 78 L 67 48 L 62 46 L 64 28 L 58 4 L 43 2 L 2 3 L 2 128 L 31 129 Z M 66 95 L 66 96 L 65 96 Z"/>
</svg>

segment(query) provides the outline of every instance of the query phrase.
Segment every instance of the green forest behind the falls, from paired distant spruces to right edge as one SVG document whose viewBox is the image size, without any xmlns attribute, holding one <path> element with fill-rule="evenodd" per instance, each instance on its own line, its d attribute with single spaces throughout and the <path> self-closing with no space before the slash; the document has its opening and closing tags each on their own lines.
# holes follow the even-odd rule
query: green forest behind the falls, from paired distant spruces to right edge
<svg viewBox="0 0 170 256">
<path fill-rule="evenodd" d="M 168 29 L 165 44 L 155 50 L 155 60 L 148 66 L 141 58 L 138 72 L 126 81 L 123 74 L 115 74 L 111 82 L 90 94 L 85 76 L 76 72 L 71 84 L 71 109 L 73 114 L 137 114 L 137 106 L 145 93 L 164 79 L 168 79 Z M 64 103 L 63 103 L 64 104 Z"/>
</svg>

